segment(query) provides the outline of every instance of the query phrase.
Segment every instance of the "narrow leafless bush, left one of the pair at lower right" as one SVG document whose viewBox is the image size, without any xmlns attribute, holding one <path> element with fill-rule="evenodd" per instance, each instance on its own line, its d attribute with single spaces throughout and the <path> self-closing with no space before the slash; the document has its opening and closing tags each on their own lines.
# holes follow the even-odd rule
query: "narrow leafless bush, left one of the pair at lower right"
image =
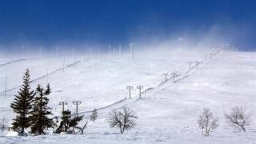
<svg viewBox="0 0 256 144">
<path fill-rule="evenodd" d="M 203 113 L 198 118 L 198 126 L 202 129 L 202 136 L 208 137 L 218 127 L 218 118 L 214 118 L 210 109 L 203 109 Z M 205 133 L 205 134 L 204 134 Z"/>
</svg>

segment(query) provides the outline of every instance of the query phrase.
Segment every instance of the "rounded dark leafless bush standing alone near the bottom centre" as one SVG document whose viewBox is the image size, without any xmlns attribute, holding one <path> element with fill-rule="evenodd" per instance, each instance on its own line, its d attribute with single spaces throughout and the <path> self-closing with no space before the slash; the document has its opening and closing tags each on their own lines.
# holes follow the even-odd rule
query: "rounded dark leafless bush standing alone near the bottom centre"
<svg viewBox="0 0 256 144">
<path fill-rule="evenodd" d="M 118 127 L 120 129 L 120 134 L 123 134 L 125 130 L 130 130 L 136 125 L 134 118 L 138 118 L 133 110 L 127 107 L 123 107 L 118 110 L 113 110 L 110 113 L 110 127 Z"/>
</svg>

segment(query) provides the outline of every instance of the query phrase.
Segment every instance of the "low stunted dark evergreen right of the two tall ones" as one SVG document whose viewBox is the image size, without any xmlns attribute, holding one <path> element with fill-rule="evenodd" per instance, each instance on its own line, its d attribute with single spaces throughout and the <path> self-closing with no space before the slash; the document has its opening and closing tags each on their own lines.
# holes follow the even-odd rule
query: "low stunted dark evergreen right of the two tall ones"
<svg viewBox="0 0 256 144">
<path fill-rule="evenodd" d="M 60 122 L 55 133 L 60 134 L 61 132 L 66 132 L 67 134 L 74 134 L 74 128 L 78 125 L 78 122 L 82 120 L 82 117 L 83 116 L 71 118 L 71 111 L 64 110 L 62 112 L 62 122 Z"/>
</svg>

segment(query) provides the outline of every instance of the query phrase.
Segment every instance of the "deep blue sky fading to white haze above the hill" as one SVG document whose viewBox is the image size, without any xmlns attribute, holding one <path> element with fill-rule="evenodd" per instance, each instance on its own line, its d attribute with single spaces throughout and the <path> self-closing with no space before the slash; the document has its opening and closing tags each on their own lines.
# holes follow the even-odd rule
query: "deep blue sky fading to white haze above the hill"
<svg viewBox="0 0 256 144">
<path fill-rule="evenodd" d="M 256 50 L 256 2 L 246 0 L 1 0 L 2 46 L 119 44 L 216 34 Z"/>
</svg>

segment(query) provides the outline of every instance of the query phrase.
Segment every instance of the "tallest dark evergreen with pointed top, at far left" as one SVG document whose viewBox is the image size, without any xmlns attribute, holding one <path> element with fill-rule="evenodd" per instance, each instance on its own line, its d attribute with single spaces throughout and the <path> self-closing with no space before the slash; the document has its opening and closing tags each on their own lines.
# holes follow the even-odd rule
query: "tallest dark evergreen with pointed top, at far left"
<svg viewBox="0 0 256 144">
<path fill-rule="evenodd" d="M 17 131 L 19 135 L 25 135 L 25 129 L 30 126 L 30 114 L 32 113 L 32 100 L 34 98 L 34 90 L 30 90 L 30 70 L 26 69 L 22 79 L 22 87 L 15 95 L 14 102 L 10 104 L 16 113 L 12 129 Z"/>
</svg>

